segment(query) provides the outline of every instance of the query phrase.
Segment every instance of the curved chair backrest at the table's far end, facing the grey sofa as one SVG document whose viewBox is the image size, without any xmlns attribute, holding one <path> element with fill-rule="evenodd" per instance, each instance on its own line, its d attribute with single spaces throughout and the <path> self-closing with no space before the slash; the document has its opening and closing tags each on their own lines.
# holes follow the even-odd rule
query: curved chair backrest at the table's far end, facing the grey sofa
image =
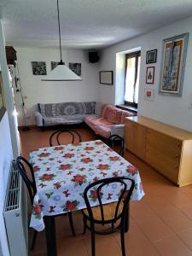
<svg viewBox="0 0 192 256">
<path fill-rule="evenodd" d="M 57 145 L 61 145 L 61 141 L 59 140 L 59 137 L 61 137 L 61 134 L 67 133 L 72 137 L 71 143 L 74 143 L 75 136 L 78 137 L 78 142 L 82 142 L 82 137 L 80 136 L 78 131 L 75 131 L 73 129 L 61 129 L 58 131 L 54 131 L 51 136 L 49 137 L 49 146 L 53 147 L 54 146 L 54 139 L 56 139 Z"/>
</svg>

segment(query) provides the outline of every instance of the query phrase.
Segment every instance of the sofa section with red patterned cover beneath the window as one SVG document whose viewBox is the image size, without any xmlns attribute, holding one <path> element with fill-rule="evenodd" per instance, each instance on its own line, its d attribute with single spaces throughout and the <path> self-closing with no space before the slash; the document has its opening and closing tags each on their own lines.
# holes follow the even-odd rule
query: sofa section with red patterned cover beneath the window
<svg viewBox="0 0 192 256">
<path fill-rule="evenodd" d="M 125 117 L 134 115 L 129 111 L 106 104 L 102 106 L 100 115 L 88 115 L 84 118 L 84 122 L 95 131 L 96 135 L 108 138 L 118 134 L 124 137 Z"/>
</svg>

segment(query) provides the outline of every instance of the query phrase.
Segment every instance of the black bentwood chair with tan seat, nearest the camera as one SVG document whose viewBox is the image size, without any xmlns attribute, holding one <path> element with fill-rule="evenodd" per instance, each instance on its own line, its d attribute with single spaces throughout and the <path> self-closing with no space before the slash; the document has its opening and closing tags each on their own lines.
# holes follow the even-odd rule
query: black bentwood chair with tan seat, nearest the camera
<svg viewBox="0 0 192 256">
<path fill-rule="evenodd" d="M 127 181 L 127 183 L 125 183 Z M 108 186 L 109 183 L 119 183 L 119 201 L 112 202 L 109 204 L 102 204 L 102 189 L 104 186 Z M 108 235 L 116 230 L 120 229 L 121 237 L 121 249 L 122 255 L 125 256 L 125 230 L 126 222 L 128 218 L 129 202 L 131 198 L 132 191 L 134 189 L 135 182 L 129 177 L 109 177 L 94 183 L 91 183 L 84 189 L 84 201 L 86 204 L 86 209 L 82 210 L 84 217 L 84 232 L 86 229 L 91 232 L 91 250 L 92 256 L 96 255 L 96 241 L 95 234 Z M 95 199 L 98 200 L 97 207 L 90 207 L 91 192 L 95 193 Z M 87 224 L 89 221 L 90 225 Z M 95 224 L 111 224 L 111 228 L 108 230 L 96 230 Z"/>
</svg>

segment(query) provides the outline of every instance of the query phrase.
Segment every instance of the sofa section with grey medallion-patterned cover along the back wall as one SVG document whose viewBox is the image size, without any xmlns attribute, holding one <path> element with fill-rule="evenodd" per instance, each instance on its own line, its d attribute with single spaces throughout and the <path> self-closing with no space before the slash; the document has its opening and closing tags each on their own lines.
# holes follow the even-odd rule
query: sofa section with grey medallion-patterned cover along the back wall
<svg viewBox="0 0 192 256">
<path fill-rule="evenodd" d="M 36 125 L 71 125 L 84 122 L 84 118 L 95 113 L 96 102 L 38 103 L 35 113 Z"/>
</svg>

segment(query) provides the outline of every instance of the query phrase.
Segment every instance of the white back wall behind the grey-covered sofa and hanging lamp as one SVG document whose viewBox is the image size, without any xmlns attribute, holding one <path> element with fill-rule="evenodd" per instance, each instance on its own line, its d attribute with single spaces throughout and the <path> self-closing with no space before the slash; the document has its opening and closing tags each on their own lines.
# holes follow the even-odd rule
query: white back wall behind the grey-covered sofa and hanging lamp
<svg viewBox="0 0 192 256">
<path fill-rule="evenodd" d="M 20 84 L 23 95 L 26 96 L 28 109 L 27 125 L 34 125 L 34 109 L 37 103 L 54 102 L 89 102 L 98 98 L 98 64 L 88 63 L 88 54 L 83 50 L 62 50 L 63 61 L 81 63 L 82 81 L 45 82 L 44 76 L 32 74 L 31 61 L 46 61 L 47 73 L 50 71 L 50 61 L 59 61 L 58 49 L 16 48 L 17 62 L 20 73 Z M 18 97 L 18 96 L 17 96 Z M 18 105 L 19 103 L 17 103 Z M 19 117 L 19 125 L 22 122 Z"/>
</svg>

